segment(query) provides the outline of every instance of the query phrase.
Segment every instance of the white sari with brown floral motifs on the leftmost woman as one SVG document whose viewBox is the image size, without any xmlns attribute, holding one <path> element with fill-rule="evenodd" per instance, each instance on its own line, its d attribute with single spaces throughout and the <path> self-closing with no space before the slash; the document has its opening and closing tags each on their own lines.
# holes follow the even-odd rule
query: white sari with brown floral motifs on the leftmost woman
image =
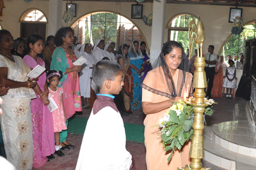
<svg viewBox="0 0 256 170">
<path fill-rule="evenodd" d="M 0 55 L 0 67 L 8 68 L 8 79 L 14 81 L 28 80 L 30 68 L 22 58 L 13 55 L 15 62 Z M 7 160 L 16 169 L 32 169 L 33 161 L 33 125 L 31 122 L 31 99 L 36 98 L 33 89 L 24 87 L 10 89 L 2 96 L 0 117 L 3 132 L 4 150 Z"/>
</svg>

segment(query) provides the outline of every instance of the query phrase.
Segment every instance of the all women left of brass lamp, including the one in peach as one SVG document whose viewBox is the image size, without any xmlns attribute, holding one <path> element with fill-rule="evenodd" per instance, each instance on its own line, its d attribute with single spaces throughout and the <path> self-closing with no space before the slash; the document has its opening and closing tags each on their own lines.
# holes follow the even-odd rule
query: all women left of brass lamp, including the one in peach
<svg viewBox="0 0 256 170">
<path fill-rule="evenodd" d="M 184 51 L 182 45 L 175 41 L 166 42 L 154 63 L 154 69 L 150 71 L 152 66 L 145 42 L 133 41 L 131 46 L 121 45 L 114 58 L 113 44 L 105 45 L 102 39 L 97 40 L 93 52 L 89 44 L 81 45 L 73 52 L 68 47 L 74 42 L 73 36 L 74 31 L 70 27 L 61 28 L 54 38 L 57 48 L 52 47 L 51 38 L 47 39 L 49 48 L 45 48 L 48 52 L 54 50 L 52 57 L 49 57 L 50 69 L 64 73 L 58 87 L 62 87 L 64 91 L 63 104 L 67 125 L 68 118 L 76 111 L 82 111 L 81 96 L 88 103 L 88 80 L 93 66 L 108 57 L 123 67 L 124 88 L 121 94 L 124 97 L 125 110 L 142 108 L 147 115 L 144 121 L 147 169 L 176 169 L 189 164 L 190 142 L 184 145 L 181 152 L 175 152 L 172 160 L 167 162 L 170 153 L 164 151 L 157 136 L 157 128 L 153 127 L 164 116 L 172 101 L 183 98 L 188 85 L 192 95 L 192 74 L 178 69 Z M 15 47 L 12 34 L 6 30 L 0 31 L 0 84 L 3 84 L 4 89 L 0 94 L 3 99 L 1 130 L 6 158 L 17 169 L 43 166 L 54 153 L 52 117 L 46 107 L 49 104 L 49 91 L 45 83 L 45 73 L 38 78 L 27 76 L 37 64 L 46 66 L 47 57 L 44 62 L 36 55 L 43 52 L 43 44 L 40 36 L 30 36 L 27 43 L 28 53 L 22 59 L 11 53 Z M 18 51 L 15 48 L 15 52 Z M 79 57 L 87 59 L 83 67 L 73 64 Z M 86 89 L 81 88 L 80 91 L 81 84 Z M 67 141 L 67 131 L 60 133 L 60 142 L 63 150 L 74 148 Z"/>
</svg>

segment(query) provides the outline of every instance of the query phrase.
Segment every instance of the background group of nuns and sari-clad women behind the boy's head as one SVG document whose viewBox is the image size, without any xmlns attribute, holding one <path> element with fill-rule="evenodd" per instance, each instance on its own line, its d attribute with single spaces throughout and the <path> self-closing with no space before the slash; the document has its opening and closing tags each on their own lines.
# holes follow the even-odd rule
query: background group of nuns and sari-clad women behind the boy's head
<svg viewBox="0 0 256 170">
<path fill-rule="evenodd" d="M 81 96 L 83 96 L 85 105 L 89 104 L 90 77 L 92 76 L 93 66 L 102 59 L 108 59 L 118 62 L 123 67 L 125 85 L 120 96 L 124 99 L 125 108 L 124 110 L 120 109 L 120 111 L 131 113 L 131 110 L 141 109 L 140 84 L 148 71 L 152 69 L 149 62 L 150 56 L 147 52 L 146 43 L 144 41 L 139 43 L 135 40 L 132 42 L 130 47 L 126 44 L 121 45 L 115 56 L 115 43 L 106 43 L 105 45 L 105 41 L 103 39 L 97 39 L 93 46 L 93 50 L 92 46 L 88 43 L 84 45 L 78 44 L 76 46 L 75 53 L 77 54 L 77 57 L 84 57 L 84 59 L 86 59 L 79 75 Z"/>
</svg>

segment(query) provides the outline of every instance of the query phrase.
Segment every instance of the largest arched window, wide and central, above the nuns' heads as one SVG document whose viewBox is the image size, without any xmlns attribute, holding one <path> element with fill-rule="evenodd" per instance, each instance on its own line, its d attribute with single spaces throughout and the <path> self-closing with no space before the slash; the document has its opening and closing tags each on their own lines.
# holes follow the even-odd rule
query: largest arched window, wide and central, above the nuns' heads
<svg viewBox="0 0 256 170">
<path fill-rule="evenodd" d="M 78 43 L 94 44 L 97 39 L 115 42 L 118 46 L 133 40 L 145 41 L 140 29 L 131 20 L 111 12 L 97 12 L 84 15 L 72 25 Z M 146 42 L 147 43 L 147 42 Z"/>
</svg>

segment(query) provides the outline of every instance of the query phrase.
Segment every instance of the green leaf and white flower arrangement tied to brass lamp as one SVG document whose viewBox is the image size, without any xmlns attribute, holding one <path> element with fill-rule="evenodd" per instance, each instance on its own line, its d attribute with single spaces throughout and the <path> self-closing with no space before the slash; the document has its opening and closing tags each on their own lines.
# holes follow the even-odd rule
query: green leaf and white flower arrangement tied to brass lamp
<svg viewBox="0 0 256 170">
<path fill-rule="evenodd" d="M 195 99 L 194 99 L 195 100 Z M 203 104 L 193 103 L 192 99 L 173 102 L 170 110 L 164 113 L 164 117 L 158 122 L 161 142 L 165 151 L 172 150 L 168 162 L 172 159 L 173 151 L 180 150 L 184 143 L 189 141 L 193 135 L 192 124 L 194 121 L 195 107 L 204 107 L 205 115 L 212 115 L 212 99 L 204 99 Z"/>
</svg>

